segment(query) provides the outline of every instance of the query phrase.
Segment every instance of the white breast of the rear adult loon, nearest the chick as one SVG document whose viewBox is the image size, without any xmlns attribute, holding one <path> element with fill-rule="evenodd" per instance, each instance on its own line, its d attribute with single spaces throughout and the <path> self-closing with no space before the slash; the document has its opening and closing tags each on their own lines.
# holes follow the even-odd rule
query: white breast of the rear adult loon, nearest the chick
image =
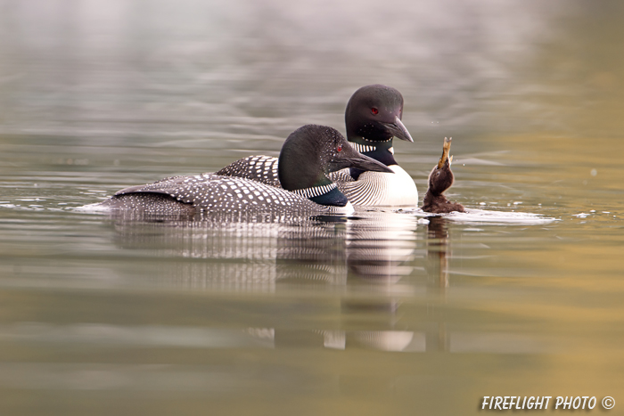
<svg viewBox="0 0 624 416">
<path fill-rule="evenodd" d="M 338 189 L 353 205 L 416 207 L 418 191 L 412 177 L 403 167 L 398 165 L 389 167 L 394 174 L 368 171 L 359 175 L 357 181 L 352 182 L 341 182 L 337 177 Z"/>
</svg>

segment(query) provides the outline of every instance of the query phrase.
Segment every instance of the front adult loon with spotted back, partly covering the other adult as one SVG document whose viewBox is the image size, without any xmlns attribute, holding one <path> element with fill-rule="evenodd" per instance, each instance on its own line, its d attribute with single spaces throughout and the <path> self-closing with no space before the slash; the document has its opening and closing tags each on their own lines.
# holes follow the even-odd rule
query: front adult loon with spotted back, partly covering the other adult
<svg viewBox="0 0 624 416">
<path fill-rule="evenodd" d="M 263 175 L 279 177 L 281 188 L 219 173 L 172 176 L 154 184 L 132 186 L 116 192 L 98 207 L 145 214 L 193 214 L 198 211 L 349 213 L 349 200 L 327 177 L 343 168 L 389 172 L 382 163 L 355 151 L 332 127 L 302 126 L 288 136 L 279 156 L 279 167 L 261 165 Z M 258 162 L 258 163 L 257 163 Z"/>
</svg>

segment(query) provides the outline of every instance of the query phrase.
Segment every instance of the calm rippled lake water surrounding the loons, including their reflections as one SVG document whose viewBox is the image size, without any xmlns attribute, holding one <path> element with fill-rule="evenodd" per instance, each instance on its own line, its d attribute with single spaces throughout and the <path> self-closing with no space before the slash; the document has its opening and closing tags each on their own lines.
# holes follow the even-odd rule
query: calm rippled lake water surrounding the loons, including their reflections
<svg viewBox="0 0 624 416">
<path fill-rule="evenodd" d="M 617 2 L 0 1 L 2 414 L 473 414 L 624 405 Z M 556 221 L 76 208 L 405 97 L 426 178 Z M 553 399 L 554 400 L 554 399 Z M 551 402 L 551 409 L 554 404 Z"/>
</svg>

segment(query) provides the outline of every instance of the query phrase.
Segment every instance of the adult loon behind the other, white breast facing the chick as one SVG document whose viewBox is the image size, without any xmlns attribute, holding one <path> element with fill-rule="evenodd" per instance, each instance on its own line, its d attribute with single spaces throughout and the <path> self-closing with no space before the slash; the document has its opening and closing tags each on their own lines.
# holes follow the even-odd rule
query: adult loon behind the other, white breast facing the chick
<svg viewBox="0 0 624 416">
<path fill-rule="evenodd" d="M 351 203 L 393 207 L 418 205 L 414 180 L 398 166 L 393 156 L 393 137 L 414 142 L 401 122 L 402 113 L 403 96 L 390 86 L 363 86 L 349 99 L 345 111 L 349 143 L 365 156 L 390 168 L 381 173 L 350 167 L 329 175 Z M 218 175 L 245 177 L 263 184 L 280 186 L 275 173 L 278 165 L 276 158 L 250 156 L 224 167 L 218 171 Z"/>
</svg>

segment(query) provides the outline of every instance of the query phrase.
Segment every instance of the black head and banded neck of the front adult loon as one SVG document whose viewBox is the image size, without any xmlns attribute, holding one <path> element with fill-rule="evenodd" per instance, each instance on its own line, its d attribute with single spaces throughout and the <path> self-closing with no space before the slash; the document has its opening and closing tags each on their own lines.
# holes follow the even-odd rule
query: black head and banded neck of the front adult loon
<svg viewBox="0 0 624 416">
<path fill-rule="evenodd" d="M 338 130 L 316 125 L 302 126 L 288 136 L 277 169 L 283 189 L 322 205 L 343 207 L 347 197 L 327 174 L 346 167 L 392 173 L 379 161 L 353 149 Z M 325 192 L 319 194 L 322 191 Z"/>
</svg>

